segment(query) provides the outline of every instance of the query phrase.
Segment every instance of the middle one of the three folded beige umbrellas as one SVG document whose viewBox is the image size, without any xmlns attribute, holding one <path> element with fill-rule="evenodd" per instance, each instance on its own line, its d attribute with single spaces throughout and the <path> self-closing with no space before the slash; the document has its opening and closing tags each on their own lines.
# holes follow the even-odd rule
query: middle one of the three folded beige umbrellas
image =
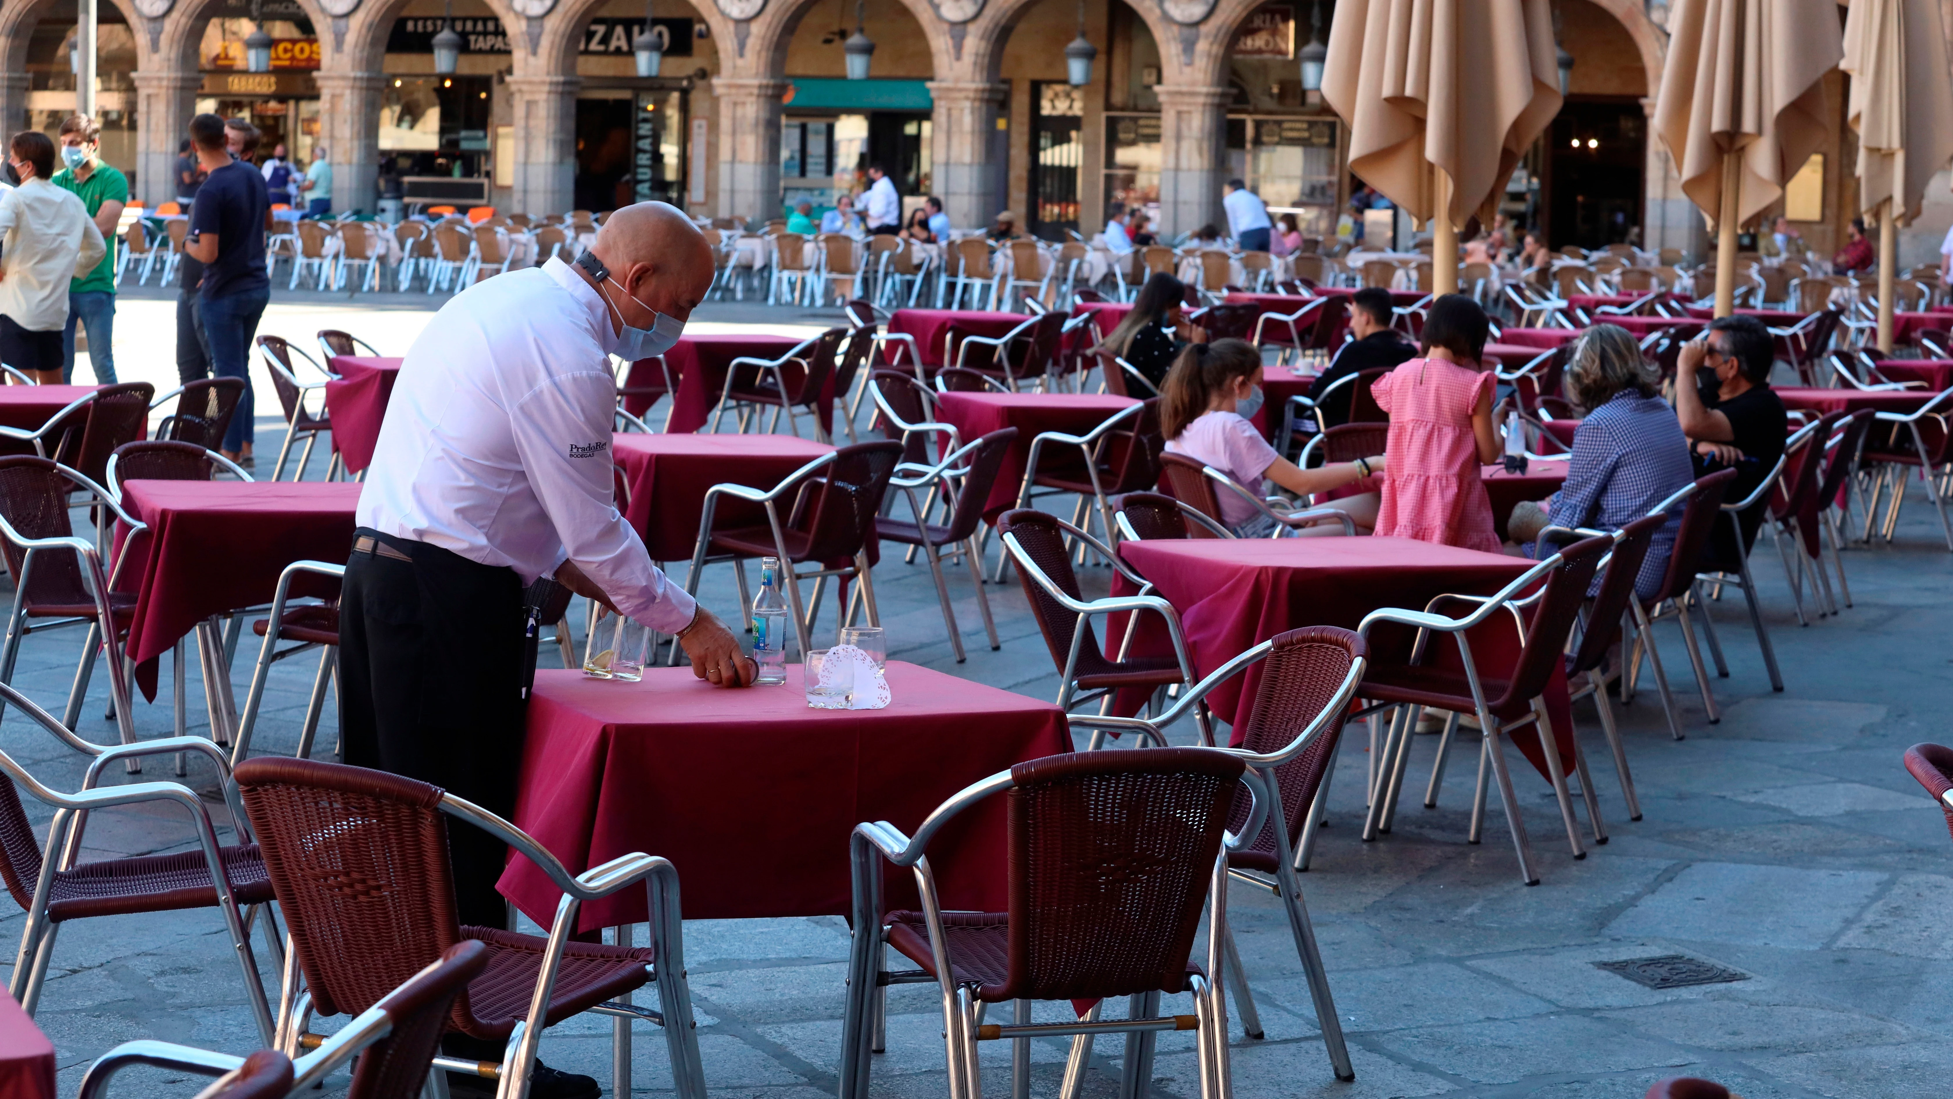
<svg viewBox="0 0 1953 1099">
<path fill-rule="evenodd" d="M 1715 313 L 1728 315 L 1736 227 L 1783 194 L 1828 133 L 1836 0 L 1676 0 L 1654 131 L 1682 194 L 1717 221 Z"/>
</svg>

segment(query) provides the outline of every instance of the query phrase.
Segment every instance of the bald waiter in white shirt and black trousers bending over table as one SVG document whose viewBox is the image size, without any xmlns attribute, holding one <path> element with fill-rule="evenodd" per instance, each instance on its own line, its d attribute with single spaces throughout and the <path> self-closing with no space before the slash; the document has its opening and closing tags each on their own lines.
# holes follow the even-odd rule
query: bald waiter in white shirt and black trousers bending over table
<svg viewBox="0 0 1953 1099">
<path fill-rule="evenodd" d="M 555 577 L 744 686 L 732 632 L 660 573 L 611 499 L 611 354 L 666 352 L 713 284 L 662 201 L 613 213 L 576 260 L 449 299 L 400 364 L 359 493 L 340 600 L 346 763 L 514 815 L 525 710 L 523 587 Z M 506 849 L 449 833 L 461 923 L 502 927 Z"/>
</svg>

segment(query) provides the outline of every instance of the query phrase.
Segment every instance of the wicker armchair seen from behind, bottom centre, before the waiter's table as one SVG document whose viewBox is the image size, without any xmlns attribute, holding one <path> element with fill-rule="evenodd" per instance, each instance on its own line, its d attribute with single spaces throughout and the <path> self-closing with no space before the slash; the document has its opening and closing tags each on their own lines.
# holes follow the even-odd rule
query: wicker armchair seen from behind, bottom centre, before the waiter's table
<svg viewBox="0 0 1953 1099">
<path fill-rule="evenodd" d="M 969 786 L 916 829 L 861 823 L 853 855 L 853 948 L 842 1021 L 842 1099 L 865 1099 L 877 991 L 891 982 L 934 980 L 943 995 L 953 1095 L 980 1095 L 976 1044 L 1014 1042 L 1014 1093 L 1029 1087 L 1031 1038 L 1125 1033 L 1127 1095 L 1152 1081 L 1160 1031 L 1197 1031 L 1203 1095 L 1228 1095 L 1226 1001 L 1221 943 L 1211 935 L 1203 964 L 1193 937 L 1207 909 L 1226 927 L 1226 833 L 1236 786 L 1254 792 L 1244 833 L 1266 819 L 1266 790 L 1238 757 L 1211 749 L 1141 749 L 1053 755 L 1019 763 Z M 1008 911 L 943 911 L 922 860 L 937 827 L 1004 794 L 1010 815 Z M 922 911 L 883 907 L 883 860 L 918 870 Z M 920 970 L 889 972 L 887 948 Z M 1160 993 L 1191 991 L 1195 1015 L 1160 1017 Z M 1127 995 L 1129 1017 L 1098 1021 L 1098 1005 L 1076 1023 L 1031 1023 L 1033 999 Z M 1014 1023 L 980 1025 L 980 1007 L 1016 999 Z M 1084 1042 L 1072 1042 L 1064 1093 L 1084 1074 Z"/>
</svg>

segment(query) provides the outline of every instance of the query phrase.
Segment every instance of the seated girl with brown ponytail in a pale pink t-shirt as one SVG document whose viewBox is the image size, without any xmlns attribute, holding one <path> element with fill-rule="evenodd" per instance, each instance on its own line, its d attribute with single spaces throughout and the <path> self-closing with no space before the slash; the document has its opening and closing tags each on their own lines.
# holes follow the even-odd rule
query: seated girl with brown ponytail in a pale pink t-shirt
<svg viewBox="0 0 1953 1099">
<path fill-rule="evenodd" d="M 1246 340 L 1215 340 L 1191 344 L 1174 360 L 1160 387 L 1160 430 L 1166 450 L 1213 465 L 1256 497 L 1262 481 L 1273 481 L 1291 493 L 1326 493 L 1353 485 L 1383 469 L 1383 456 L 1357 462 L 1332 462 L 1316 469 L 1301 469 L 1262 438 L 1248 417 L 1262 407 L 1262 352 Z M 1242 538 L 1267 538 L 1285 530 L 1279 520 L 1254 506 L 1252 501 L 1217 489 L 1219 518 Z M 1332 508 L 1369 528 L 1377 522 L 1377 493 L 1361 493 L 1334 501 Z M 1340 534 L 1340 524 L 1305 528 L 1310 534 Z"/>
</svg>

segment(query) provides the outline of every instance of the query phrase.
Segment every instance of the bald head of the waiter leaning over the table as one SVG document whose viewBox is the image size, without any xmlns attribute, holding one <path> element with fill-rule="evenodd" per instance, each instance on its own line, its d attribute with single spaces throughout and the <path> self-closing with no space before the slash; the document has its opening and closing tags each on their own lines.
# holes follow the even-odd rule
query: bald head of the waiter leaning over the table
<svg viewBox="0 0 1953 1099">
<path fill-rule="evenodd" d="M 602 286 L 598 293 L 609 299 L 621 325 L 650 329 L 652 317 L 633 307 L 633 297 L 644 309 L 684 321 L 713 287 L 711 244 L 699 227 L 670 203 L 641 201 L 611 213 L 603 219 L 590 250 L 603 260 L 615 280 L 615 286 Z"/>
</svg>

